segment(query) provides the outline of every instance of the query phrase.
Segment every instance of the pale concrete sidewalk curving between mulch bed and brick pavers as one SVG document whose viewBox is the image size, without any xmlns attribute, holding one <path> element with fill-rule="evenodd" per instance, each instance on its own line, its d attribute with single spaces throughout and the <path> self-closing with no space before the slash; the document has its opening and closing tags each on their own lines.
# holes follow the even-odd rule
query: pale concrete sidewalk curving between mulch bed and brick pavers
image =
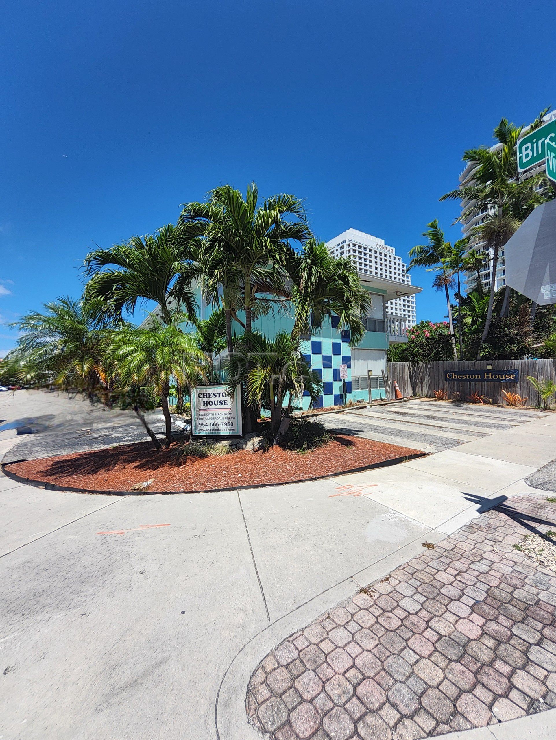
<svg viewBox="0 0 556 740">
<path fill-rule="evenodd" d="M 555 438 L 550 415 L 479 449 L 239 493 L 116 499 L 0 478 L 0 735 L 260 738 L 244 705 L 258 661 L 423 541 L 530 491 Z"/>
</svg>

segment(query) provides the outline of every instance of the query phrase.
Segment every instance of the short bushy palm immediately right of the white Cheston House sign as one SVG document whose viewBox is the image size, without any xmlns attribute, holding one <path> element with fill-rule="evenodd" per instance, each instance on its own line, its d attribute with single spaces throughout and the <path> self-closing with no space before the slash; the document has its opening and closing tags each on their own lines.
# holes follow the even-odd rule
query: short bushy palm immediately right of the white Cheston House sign
<svg viewBox="0 0 556 740">
<path fill-rule="evenodd" d="M 287 332 L 278 332 L 273 340 L 258 332 L 238 337 L 226 369 L 230 392 L 242 383 L 249 406 L 270 412 L 274 442 L 286 431 L 289 416 L 301 398 L 307 394 L 312 405 L 322 392 L 321 378 L 309 368 L 299 341 Z M 280 431 L 284 418 L 288 421 Z"/>
</svg>

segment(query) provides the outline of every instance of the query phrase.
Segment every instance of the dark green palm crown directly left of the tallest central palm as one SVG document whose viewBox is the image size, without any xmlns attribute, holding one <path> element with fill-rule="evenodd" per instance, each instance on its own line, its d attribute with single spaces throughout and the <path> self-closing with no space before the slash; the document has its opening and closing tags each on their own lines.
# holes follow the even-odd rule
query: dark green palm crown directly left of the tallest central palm
<svg viewBox="0 0 556 740">
<path fill-rule="evenodd" d="M 133 236 L 111 249 L 95 249 L 84 260 L 90 277 L 85 295 L 109 302 L 119 315 L 124 309 L 133 312 L 138 303 L 153 300 L 167 324 L 178 302 L 188 314 L 195 315 L 192 283 L 198 266 L 193 244 L 193 238 L 184 238 L 182 232 L 178 239 L 175 226 L 170 224 L 153 235 Z"/>
</svg>

